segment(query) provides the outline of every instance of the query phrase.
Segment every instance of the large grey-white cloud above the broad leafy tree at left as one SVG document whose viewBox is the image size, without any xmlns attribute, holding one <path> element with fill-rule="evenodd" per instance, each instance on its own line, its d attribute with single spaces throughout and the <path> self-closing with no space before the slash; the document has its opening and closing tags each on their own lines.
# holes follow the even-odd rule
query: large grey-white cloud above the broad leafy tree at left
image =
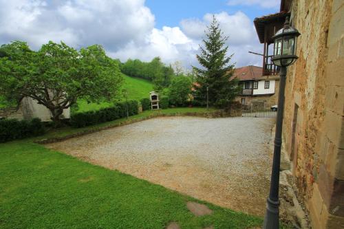
<svg viewBox="0 0 344 229">
<path fill-rule="evenodd" d="M 100 43 L 116 51 L 154 28 L 143 0 L 0 0 L 0 42 L 21 39 L 34 48 L 49 40 L 76 47 Z"/>
</svg>

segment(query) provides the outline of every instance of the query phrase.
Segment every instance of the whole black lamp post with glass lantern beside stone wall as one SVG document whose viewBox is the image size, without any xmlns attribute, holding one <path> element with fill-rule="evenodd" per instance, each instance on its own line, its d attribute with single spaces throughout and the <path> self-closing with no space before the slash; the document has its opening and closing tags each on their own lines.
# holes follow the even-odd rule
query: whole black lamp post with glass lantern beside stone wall
<svg viewBox="0 0 344 229">
<path fill-rule="evenodd" d="M 272 173 L 270 183 L 270 194 L 266 206 L 264 218 L 264 229 L 279 228 L 279 164 L 281 160 L 282 144 L 282 124 L 284 110 L 284 88 L 286 86 L 287 66 L 292 65 L 296 60 L 297 36 L 300 33 L 289 25 L 289 19 L 286 18 L 283 28 L 277 31 L 272 39 L 275 41 L 274 56 L 272 62 L 281 67 L 279 83 L 279 101 L 277 107 L 275 148 L 272 162 Z"/>
</svg>

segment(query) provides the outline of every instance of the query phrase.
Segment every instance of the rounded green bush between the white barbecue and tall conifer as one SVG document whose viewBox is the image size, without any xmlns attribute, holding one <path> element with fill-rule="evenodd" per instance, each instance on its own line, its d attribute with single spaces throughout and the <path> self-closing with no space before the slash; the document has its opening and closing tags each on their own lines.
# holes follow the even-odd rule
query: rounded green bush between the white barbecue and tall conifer
<svg viewBox="0 0 344 229">
<path fill-rule="evenodd" d="M 182 75 L 173 78 L 169 87 L 169 104 L 176 107 L 186 106 L 191 94 L 191 87 L 191 78 Z"/>
</svg>

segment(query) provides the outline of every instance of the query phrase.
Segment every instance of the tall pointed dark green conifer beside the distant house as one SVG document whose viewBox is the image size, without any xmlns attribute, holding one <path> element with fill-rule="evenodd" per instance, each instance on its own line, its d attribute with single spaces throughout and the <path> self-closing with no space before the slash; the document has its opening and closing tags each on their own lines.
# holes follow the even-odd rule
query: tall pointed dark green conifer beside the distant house
<svg viewBox="0 0 344 229">
<path fill-rule="evenodd" d="M 210 105 L 226 107 L 238 94 L 238 82 L 233 79 L 234 65 L 230 63 L 233 56 L 227 54 L 228 37 L 223 36 L 219 23 L 213 16 L 213 22 L 207 27 L 204 47 L 200 45 L 201 53 L 197 60 L 202 68 L 193 67 L 196 82 L 199 87 L 195 90 L 195 100 L 201 104 L 206 102 L 206 88 Z"/>
</svg>

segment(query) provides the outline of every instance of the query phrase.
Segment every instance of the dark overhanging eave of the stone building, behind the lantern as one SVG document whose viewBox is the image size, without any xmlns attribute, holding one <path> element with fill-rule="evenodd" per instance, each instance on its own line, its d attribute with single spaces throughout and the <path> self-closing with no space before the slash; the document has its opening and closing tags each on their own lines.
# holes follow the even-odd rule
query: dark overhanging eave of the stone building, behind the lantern
<svg viewBox="0 0 344 229">
<path fill-rule="evenodd" d="M 268 14 L 266 16 L 256 17 L 255 20 L 253 20 L 253 23 L 255 23 L 255 28 L 260 43 L 264 43 L 264 32 L 268 31 L 270 33 L 274 33 L 273 31 L 265 30 L 266 25 L 277 26 L 278 28 L 275 28 L 277 31 L 282 27 L 287 16 L 290 16 L 289 12 L 281 11 L 275 14 Z M 267 34 L 268 39 L 270 39 L 272 35 L 273 34 Z"/>
</svg>

